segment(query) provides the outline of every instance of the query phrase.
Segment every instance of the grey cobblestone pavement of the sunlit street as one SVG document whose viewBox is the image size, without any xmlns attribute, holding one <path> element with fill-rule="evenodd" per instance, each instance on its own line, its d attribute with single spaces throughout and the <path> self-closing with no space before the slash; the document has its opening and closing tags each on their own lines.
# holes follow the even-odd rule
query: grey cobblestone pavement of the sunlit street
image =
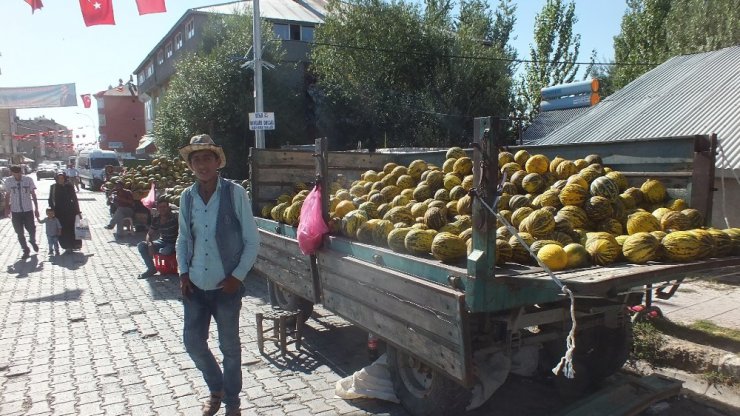
<svg viewBox="0 0 740 416">
<path fill-rule="evenodd" d="M 42 212 L 51 183 L 37 183 Z M 143 233 L 116 241 L 103 228 L 104 195 L 78 196 L 93 238 L 81 252 L 49 258 L 37 224 L 40 251 L 20 260 L 11 222 L 0 220 L 0 415 L 200 414 L 208 391 L 182 346 L 178 278 L 137 279 Z M 338 379 L 367 365 L 366 335 L 321 308 L 300 354 L 260 355 L 254 316 L 267 309 L 265 282 L 250 275 L 240 331 L 242 414 L 406 414 L 387 402 L 334 397 Z"/>
</svg>

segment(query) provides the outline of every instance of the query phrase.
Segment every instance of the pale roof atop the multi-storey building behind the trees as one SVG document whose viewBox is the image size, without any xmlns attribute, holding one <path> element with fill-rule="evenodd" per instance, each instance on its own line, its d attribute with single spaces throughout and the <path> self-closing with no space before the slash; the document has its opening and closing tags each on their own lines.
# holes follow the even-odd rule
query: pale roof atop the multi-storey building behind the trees
<svg viewBox="0 0 740 416">
<path fill-rule="evenodd" d="M 326 16 L 326 0 L 260 0 L 260 17 L 269 20 L 320 24 Z M 232 1 L 215 6 L 198 7 L 206 13 L 233 14 L 234 10 L 251 10 L 251 1 Z"/>
</svg>

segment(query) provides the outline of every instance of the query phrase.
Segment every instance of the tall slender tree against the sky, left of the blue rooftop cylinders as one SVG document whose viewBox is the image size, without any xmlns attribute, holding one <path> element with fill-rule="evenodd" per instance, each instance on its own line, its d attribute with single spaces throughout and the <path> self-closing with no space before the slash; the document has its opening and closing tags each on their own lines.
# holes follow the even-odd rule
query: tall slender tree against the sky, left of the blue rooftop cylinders
<svg viewBox="0 0 740 416">
<path fill-rule="evenodd" d="M 575 63 L 581 35 L 573 34 L 578 21 L 573 2 L 547 0 L 535 17 L 534 42 L 529 48 L 529 62 L 519 80 L 515 108 L 520 116 L 531 120 L 538 112 L 544 87 L 572 82 L 579 66 Z"/>
</svg>

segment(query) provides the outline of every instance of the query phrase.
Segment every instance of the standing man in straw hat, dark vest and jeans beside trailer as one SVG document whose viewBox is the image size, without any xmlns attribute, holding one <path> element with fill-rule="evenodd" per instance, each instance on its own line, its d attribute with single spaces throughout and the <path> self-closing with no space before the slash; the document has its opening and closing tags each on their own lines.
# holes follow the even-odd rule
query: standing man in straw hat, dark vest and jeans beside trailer
<svg viewBox="0 0 740 416">
<path fill-rule="evenodd" d="M 176 251 L 185 311 L 183 342 L 210 390 L 203 415 L 215 414 L 222 402 L 227 415 L 240 415 L 239 310 L 259 234 L 244 188 L 219 177 L 218 170 L 226 165 L 221 146 L 200 134 L 180 148 L 180 155 L 197 179 L 180 198 Z M 218 328 L 223 371 L 208 348 L 211 317 Z"/>
</svg>

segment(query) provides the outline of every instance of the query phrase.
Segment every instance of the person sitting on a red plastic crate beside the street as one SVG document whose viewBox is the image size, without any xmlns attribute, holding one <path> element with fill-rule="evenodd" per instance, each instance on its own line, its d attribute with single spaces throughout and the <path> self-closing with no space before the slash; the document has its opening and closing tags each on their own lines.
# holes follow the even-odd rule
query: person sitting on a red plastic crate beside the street
<svg viewBox="0 0 740 416">
<path fill-rule="evenodd" d="M 157 215 L 152 218 L 152 225 L 144 241 L 137 245 L 139 254 L 146 265 L 146 271 L 139 275 L 139 279 L 146 279 L 157 274 L 153 259 L 155 254 L 163 256 L 174 254 L 177 242 L 177 221 L 177 214 L 172 212 L 167 197 L 160 196 L 157 199 Z M 159 238 L 155 239 L 157 234 Z"/>
</svg>

